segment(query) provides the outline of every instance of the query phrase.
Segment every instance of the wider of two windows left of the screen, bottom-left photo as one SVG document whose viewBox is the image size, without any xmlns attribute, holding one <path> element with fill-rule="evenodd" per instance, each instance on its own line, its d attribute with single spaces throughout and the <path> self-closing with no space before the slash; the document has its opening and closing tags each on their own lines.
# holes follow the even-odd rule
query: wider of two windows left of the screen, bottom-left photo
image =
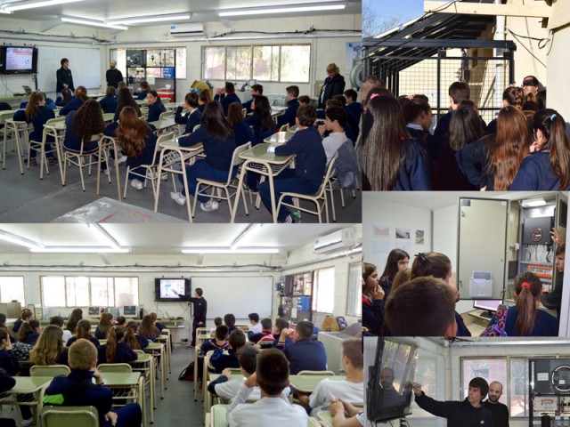
<svg viewBox="0 0 570 427">
<path fill-rule="evenodd" d="M 121 307 L 139 304 L 138 278 L 43 276 L 44 307 Z"/>
</svg>

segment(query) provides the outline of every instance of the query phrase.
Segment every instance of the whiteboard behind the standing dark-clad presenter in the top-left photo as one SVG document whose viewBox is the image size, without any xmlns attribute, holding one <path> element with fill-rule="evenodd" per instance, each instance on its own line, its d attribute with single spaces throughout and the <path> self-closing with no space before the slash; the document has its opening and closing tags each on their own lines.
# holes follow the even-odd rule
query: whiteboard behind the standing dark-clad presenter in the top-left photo
<svg viewBox="0 0 570 427">
<path fill-rule="evenodd" d="M 87 89 L 101 87 L 101 52 L 97 48 L 37 46 L 37 89 L 55 92 L 55 72 L 61 68 L 61 59 L 69 60 L 73 85 Z"/>
</svg>

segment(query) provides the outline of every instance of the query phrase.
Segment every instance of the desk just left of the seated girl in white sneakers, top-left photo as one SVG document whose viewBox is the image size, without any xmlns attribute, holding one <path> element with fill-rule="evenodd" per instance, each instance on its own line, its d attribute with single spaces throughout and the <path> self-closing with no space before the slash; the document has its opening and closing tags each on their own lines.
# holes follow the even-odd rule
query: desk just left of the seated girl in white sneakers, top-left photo
<svg viewBox="0 0 570 427">
<path fill-rule="evenodd" d="M 160 122 L 161 120 L 159 120 Z M 165 120 L 162 120 L 165 121 Z M 174 120 L 167 120 L 175 123 Z M 158 122 L 154 122 L 158 123 Z M 158 130 L 158 129 L 157 129 Z M 159 196 L 160 196 L 160 181 L 162 173 L 171 173 L 173 184 L 175 183 L 175 174 L 182 174 L 184 183 L 184 196 L 186 197 L 186 209 L 188 211 L 188 222 L 192 222 L 191 201 L 190 193 L 188 192 L 188 178 L 186 177 L 186 161 L 193 163 L 193 157 L 198 156 L 204 151 L 202 143 L 194 144 L 191 147 L 181 147 L 178 145 L 177 140 L 164 141 L 160 143 L 160 158 L 159 158 L 159 181 L 157 182 L 157 191 L 154 197 L 154 212 L 159 210 Z M 180 165 L 180 169 L 175 166 Z M 176 190 L 176 187 L 175 187 Z M 174 203 L 174 202 L 173 202 Z"/>
</svg>

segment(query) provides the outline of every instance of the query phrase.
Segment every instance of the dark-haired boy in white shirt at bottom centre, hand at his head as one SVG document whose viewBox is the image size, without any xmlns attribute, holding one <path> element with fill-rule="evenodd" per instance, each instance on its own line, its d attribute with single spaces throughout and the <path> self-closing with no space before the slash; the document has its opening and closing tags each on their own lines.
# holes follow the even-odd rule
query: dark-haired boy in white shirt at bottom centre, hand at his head
<svg viewBox="0 0 570 427">
<path fill-rule="evenodd" d="M 246 405 L 248 396 L 258 385 L 261 399 Z M 283 390 L 289 387 L 289 367 L 280 350 L 263 350 L 257 356 L 256 373 L 241 385 L 232 404 L 228 407 L 227 421 L 231 427 L 252 425 L 287 425 L 306 427 L 308 417 L 305 409 L 291 405 L 283 397 Z M 255 420 L 255 422 L 253 421 Z"/>
</svg>

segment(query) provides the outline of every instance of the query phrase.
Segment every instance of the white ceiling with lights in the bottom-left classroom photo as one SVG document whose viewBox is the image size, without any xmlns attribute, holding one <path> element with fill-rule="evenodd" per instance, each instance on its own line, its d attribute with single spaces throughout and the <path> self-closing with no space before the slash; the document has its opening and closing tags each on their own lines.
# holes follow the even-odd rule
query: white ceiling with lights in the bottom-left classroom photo
<svg viewBox="0 0 570 427">
<path fill-rule="evenodd" d="M 343 229 L 342 224 L 102 224 L 101 229 L 132 254 L 180 254 L 183 247 L 231 246 L 244 231 L 240 247 L 273 247 L 289 252 L 314 238 Z M 92 224 L 0 224 L 0 233 L 45 246 L 110 246 Z M 26 246 L 0 239 L 0 254 L 28 254 Z M 2 261 L 0 259 L 0 261 Z"/>
</svg>

